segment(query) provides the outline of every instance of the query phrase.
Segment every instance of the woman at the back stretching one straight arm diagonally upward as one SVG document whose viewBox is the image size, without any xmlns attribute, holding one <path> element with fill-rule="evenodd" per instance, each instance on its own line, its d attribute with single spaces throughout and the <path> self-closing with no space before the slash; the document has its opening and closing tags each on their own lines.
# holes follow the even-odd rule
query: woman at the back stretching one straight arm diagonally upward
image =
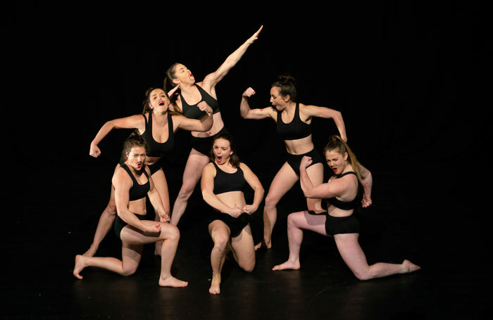
<svg viewBox="0 0 493 320">
<path fill-rule="evenodd" d="M 165 89 L 168 86 L 180 86 L 180 94 L 176 101 L 177 108 L 175 111 L 182 113 L 185 117 L 201 119 L 204 113 L 196 108 L 196 105 L 201 101 L 206 101 L 213 109 L 214 118 L 213 127 L 208 132 L 192 132 L 192 150 L 183 172 L 182 187 L 173 205 L 171 224 L 178 224 L 187 209 L 188 199 L 192 196 L 192 192 L 197 182 L 199 182 L 202 169 L 209 162 L 208 153 L 211 151 L 214 136 L 227 132 L 219 110 L 216 85 L 242 58 L 246 49 L 258 38 L 261 30 L 262 27 L 246 40 L 242 46 L 239 46 L 235 52 L 231 53 L 218 70 L 207 75 L 202 82 L 195 82 L 192 72 L 181 63 L 171 65 L 166 71 Z"/>
</svg>

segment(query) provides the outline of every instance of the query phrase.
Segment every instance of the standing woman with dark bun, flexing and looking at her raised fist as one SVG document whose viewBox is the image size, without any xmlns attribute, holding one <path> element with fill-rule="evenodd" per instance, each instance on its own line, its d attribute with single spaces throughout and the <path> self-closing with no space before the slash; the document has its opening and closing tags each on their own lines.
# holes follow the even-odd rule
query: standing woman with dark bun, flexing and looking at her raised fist
<svg viewBox="0 0 493 320">
<path fill-rule="evenodd" d="M 299 180 L 299 163 L 304 155 L 313 159 L 307 169 L 313 184 L 318 186 L 323 182 L 323 162 L 315 150 L 311 139 L 310 124 L 313 117 L 332 118 L 339 134 L 346 140 L 346 129 L 342 115 L 337 110 L 304 105 L 297 102 L 297 82 L 293 77 L 280 76 L 270 88 L 270 103 L 272 107 L 265 109 L 250 109 L 248 99 L 255 94 L 254 89 L 248 88 L 242 95 L 239 111 L 244 119 L 263 119 L 270 117 L 277 123 L 277 133 L 285 141 L 287 162 L 280 168 L 270 184 L 263 209 L 263 242 L 261 245 L 270 248 L 272 231 L 277 219 L 276 205 L 287 191 Z M 320 210 L 320 199 L 306 198 L 308 210 Z"/>
</svg>

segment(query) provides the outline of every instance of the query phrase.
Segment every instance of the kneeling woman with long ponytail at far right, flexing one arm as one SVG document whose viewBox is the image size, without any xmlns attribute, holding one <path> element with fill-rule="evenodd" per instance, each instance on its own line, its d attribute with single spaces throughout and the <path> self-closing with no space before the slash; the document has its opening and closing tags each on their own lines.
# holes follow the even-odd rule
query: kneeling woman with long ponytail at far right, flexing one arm
<svg viewBox="0 0 493 320">
<path fill-rule="evenodd" d="M 303 229 L 324 236 L 334 236 L 342 259 L 360 280 L 405 274 L 420 269 L 408 260 L 404 260 L 401 264 L 379 262 L 368 266 L 365 254 L 358 243 L 359 223 L 353 211 L 361 200 L 360 180 L 365 191 L 363 207 L 371 204 L 371 174 L 358 163 L 354 153 L 339 136 L 330 136 L 324 153 L 327 164 L 335 173 L 326 184 L 313 186 L 311 183 L 306 173 L 306 167 L 312 162 L 311 158 L 304 157 L 299 170 L 303 193 L 308 198 L 327 199 L 327 212 L 302 211 L 288 216 L 289 258 L 285 263 L 273 267 L 273 270 L 299 269 L 299 249 L 303 241 Z"/>
</svg>

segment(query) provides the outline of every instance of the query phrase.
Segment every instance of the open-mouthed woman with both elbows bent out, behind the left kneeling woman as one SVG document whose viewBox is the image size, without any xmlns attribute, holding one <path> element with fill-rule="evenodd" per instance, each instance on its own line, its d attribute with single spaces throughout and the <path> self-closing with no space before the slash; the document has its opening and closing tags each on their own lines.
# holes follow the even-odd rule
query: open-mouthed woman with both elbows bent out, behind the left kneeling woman
<svg viewBox="0 0 493 320">
<path fill-rule="evenodd" d="M 167 213 L 170 212 L 170 199 L 166 176 L 161 168 L 161 160 L 164 155 L 173 151 L 175 145 L 175 132 L 177 129 L 204 132 L 210 130 L 213 125 L 212 109 L 206 102 L 201 102 L 197 105 L 197 107 L 205 114 L 201 120 L 189 119 L 182 115 L 172 115 L 170 113 L 169 105 L 170 99 L 163 89 L 148 89 L 146 91 L 142 115 L 132 115 L 130 117 L 123 117 L 106 122 L 94 137 L 89 150 L 89 155 L 97 158 L 101 155 L 98 144 L 109 132 L 111 132 L 111 130 L 136 129 L 142 138 L 146 140 L 148 155 L 146 156 L 145 164 L 151 170 L 152 179 L 156 184 L 156 190 L 159 196 L 161 196 L 161 202 Z M 119 167 L 119 165 L 116 166 L 115 172 Z M 96 233 L 94 233 L 94 239 L 89 250 L 85 252 L 85 256 L 92 257 L 96 253 L 99 244 L 111 229 L 115 217 L 115 188 L 111 186 L 110 200 L 99 218 Z M 156 254 L 161 252 L 159 244 L 160 243 L 156 244 Z"/>
</svg>

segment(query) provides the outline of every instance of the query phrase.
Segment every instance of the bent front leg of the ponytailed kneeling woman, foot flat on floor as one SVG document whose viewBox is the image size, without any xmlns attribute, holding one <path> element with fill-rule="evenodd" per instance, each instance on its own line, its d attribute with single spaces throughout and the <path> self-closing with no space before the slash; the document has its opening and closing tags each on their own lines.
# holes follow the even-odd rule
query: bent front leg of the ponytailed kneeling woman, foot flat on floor
<svg viewBox="0 0 493 320">
<path fill-rule="evenodd" d="M 303 230 L 310 230 L 327 236 L 325 233 L 325 215 L 310 215 L 306 211 L 294 212 L 287 216 L 287 241 L 289 257 L 286 262 L 273 267 L 273 270 L 294 269 L 301 267 L 299 249 L 303 241 Z"/>
</svg>

